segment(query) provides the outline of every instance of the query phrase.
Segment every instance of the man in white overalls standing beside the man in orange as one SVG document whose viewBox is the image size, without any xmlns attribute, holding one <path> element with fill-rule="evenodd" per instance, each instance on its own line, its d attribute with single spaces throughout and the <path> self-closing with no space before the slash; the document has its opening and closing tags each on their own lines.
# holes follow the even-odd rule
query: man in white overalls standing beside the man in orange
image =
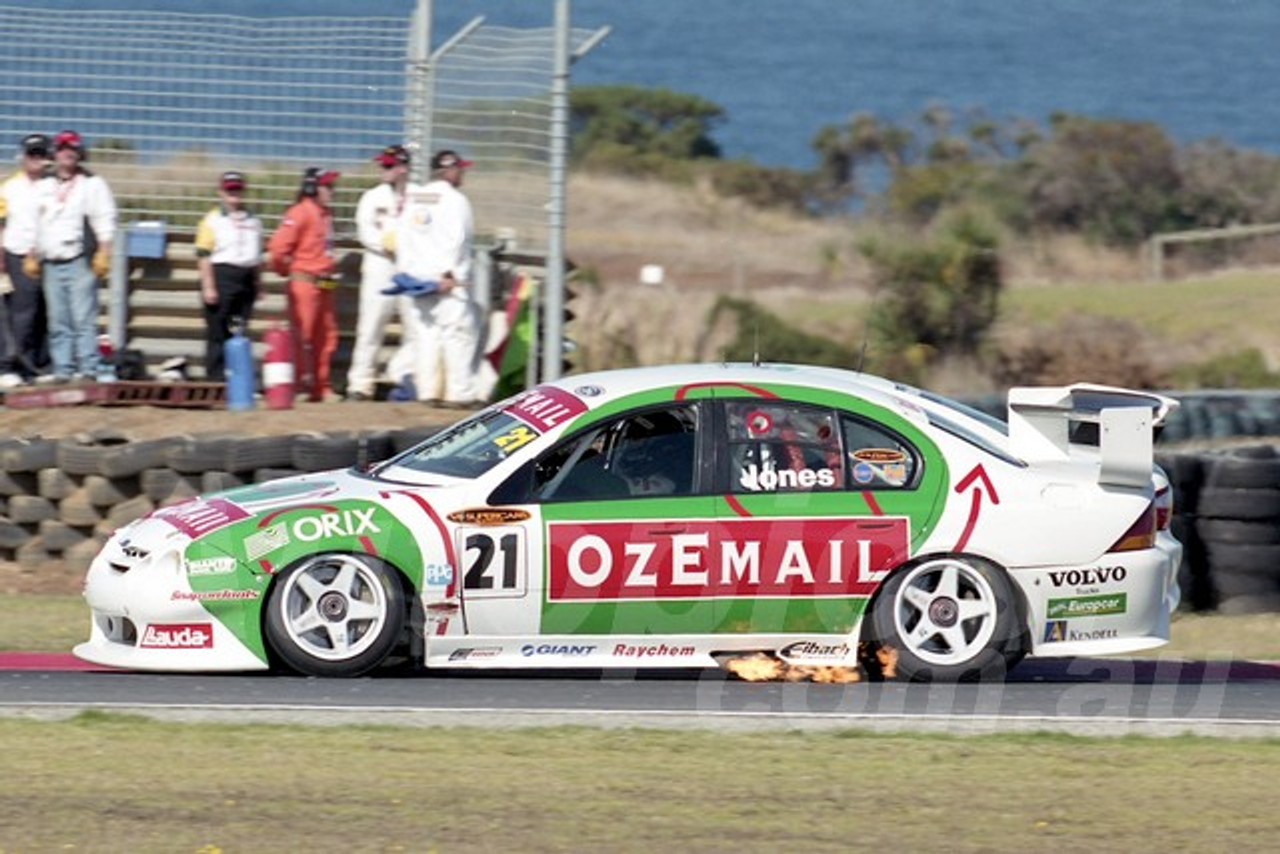
<svg viewBox="0 0 1280 854">
<path fill-rule="evenodd" d="M 401 145 L 383 149 L 374 157 L 383 169 L 383 179 L 366 189 L 356 205 L 356 236 L 364 247 L 360 262 L 360 314 L 356 319 L 356 342 L 351 351 L 351 369 L 347 371 L 347 399 L 369 401 L 374 397 L 378 352 L 383 347 L 387 324 L 398 310 L 402 335 L 411 302 L 408 297 L 387 296 L 396 274 L 396 262 L 387 250 L 387 230 L 404 207 L 404 188 L 408 184 L 410 154 Z M 413 370 L 407 341 L 401 343 L 392 357 L 387 373 L 399 382 Z"/>
</svg>

